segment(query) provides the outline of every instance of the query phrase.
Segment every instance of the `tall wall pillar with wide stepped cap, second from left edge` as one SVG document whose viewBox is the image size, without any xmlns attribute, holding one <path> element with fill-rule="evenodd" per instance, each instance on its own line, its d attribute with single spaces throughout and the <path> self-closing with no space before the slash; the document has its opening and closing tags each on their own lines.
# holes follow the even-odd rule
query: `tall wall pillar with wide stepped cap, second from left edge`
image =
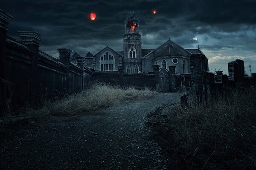
<svg viewBox="0 0 256 170">
<path fill-rule="evenodd" d="M 41 35 L 36 31 L 18 31 L 21 42 L 29 46 L 29 50 L 34 53 L 31 60 L 31 99 L 39 95 L 39 74 L 38 74 L 38 58 L 39 58 L 39 44 Z"/>
</svg>

